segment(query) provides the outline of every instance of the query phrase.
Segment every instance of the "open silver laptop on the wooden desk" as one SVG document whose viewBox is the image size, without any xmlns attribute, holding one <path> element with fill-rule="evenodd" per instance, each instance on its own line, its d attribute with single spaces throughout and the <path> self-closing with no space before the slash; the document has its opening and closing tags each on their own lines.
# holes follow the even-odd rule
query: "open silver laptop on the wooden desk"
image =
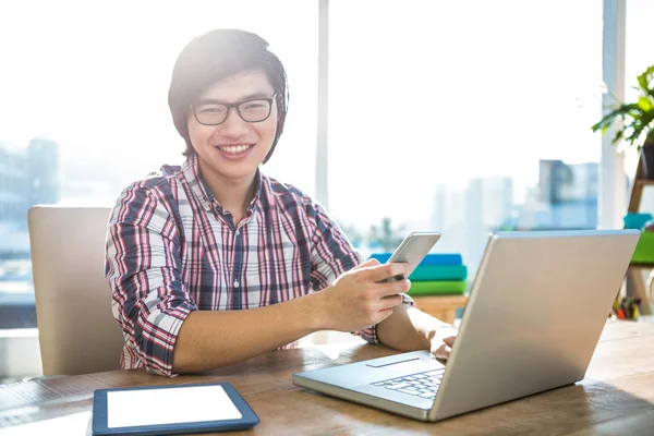
<svg viewBox="0 0 654 436">
<path fill-rule="evenodd" d="M 639 230 L 492 233 L 447 365 L 428 351 L 293 374 L 293 384 L 420 421 L 583 379 Z"/>
</svg>

